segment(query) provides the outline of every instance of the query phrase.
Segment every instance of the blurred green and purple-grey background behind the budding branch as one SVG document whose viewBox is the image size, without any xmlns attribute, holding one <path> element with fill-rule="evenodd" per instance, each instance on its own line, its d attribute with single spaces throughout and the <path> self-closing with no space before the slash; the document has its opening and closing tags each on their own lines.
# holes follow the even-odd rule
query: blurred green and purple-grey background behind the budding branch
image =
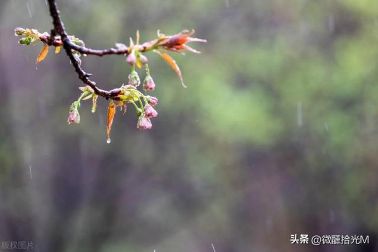
<svg viewBox="0 0 378 252">
<path fill-rule="evenodd" d="M 92 48 L 196 29 L 176 55 L 187 89 L 147 54 L 159 98 L 150 131 L 107 102 L 68 125 L 82 86 L 65 53 L 35 67 L 45 0 L 0 1 L 0 240 L 35 251 L 378 251 L 378 2 L 57 1 Z M 122 56 L 87 56 L 103 89 Z M 140 72 L 141 78 L 145 74 Z M 131 108 L 131 107 L 130 107 Z M 32 173 L 32 176 L 30 174 Z M 369 235 L 368 245 L 290 245 L 291 234 Z"/>
</svg>

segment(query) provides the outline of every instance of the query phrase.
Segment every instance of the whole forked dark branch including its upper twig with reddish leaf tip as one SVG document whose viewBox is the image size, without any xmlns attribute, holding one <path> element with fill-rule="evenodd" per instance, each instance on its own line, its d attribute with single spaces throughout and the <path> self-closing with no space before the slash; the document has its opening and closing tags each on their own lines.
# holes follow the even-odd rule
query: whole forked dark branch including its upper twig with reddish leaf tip
<svg viewBox="0 0 378 252">
<path fill-rule="evenodd" d="M 50 10 L 50 16 L 52 18 L 52 24 L 53 29 L 51 29 L 51 33 L 39 33 L 37 30 L 30 30 L 30 29 L 23 29 L 23 28 L 16 28 L 15 29 L 15 35 L 26 36 L 25 38 L 21 39 L 19 41 L 20 44 L 30 44 L 32 41 L 35 41 L 35 36 L 37 36 L 38 40 L 40 40 L 42 43 L 47 44 L 48 46 L 55 46 L 55 47 L 64 47 L 66 50 L 67 55 L 69 56 L 71 60 L 71 64 L 74 67 L 76 73 L 79 75 L 79 79 L 82 80 L 82 82 L 88 86 L 90 86 L 94 93 L 105 97 L 106 99 L 113 99 L 117 100 L 119 97 L 117 95 L 119 94 L 119 89 L 113 89 L 110 91 L 102 90 L 96 87 L 96 83 L 94 81 L 91 81 L 88 77 L 92 74 L 86 73 L 81 67 L 80 67 L 80 59 L 77 56 L 78 53 L 80 54 L 92 54 L 97 56 L 103 56 L 106 54 L 123 54 L 127 57 L 127 61 L 131 65 L 135 64 L 146 64 L 147 58 L 142 55 L 142 52 L 146 51 L 153 51 L 157 50 L 159 53 L 159 49 L 174 51 L 182 53 L 182 50 L 191 51 L 194 53 L 200 53 L 199 51 L 193 49 L 192 47 L 186 45 L 187 42 L 206 42 L 205 39 L 199 39 L 199 38 L 193 38 L 191 35 L 194 34 L 194 30 L 188 31 L 183 30 L 180 33 L 177 33 L 175 35 L 166 36 L 158 30 L 158 38 L 147 41 L 143 44 L 139 44 L 139 32 L 137 32 L 137 42 L 134 44 L 133 40 L 130 39 L 130 46 L 126 46 L 124 44 L 116 44 L 117 48 L 108 48 L 108 49 L 91 49 L 86 48 L 83 41 L 81 41 L 78 38 L 75 38 L 75 36 L 69 36 L 65 30 L 64 24 L 61 21 L 59 17 L 59 10 L 56 6 L 56 0 L 48 0 L 49 10 Z M 26 34 L 25 34 L 26 33 Z M 34 39 L 34 40 L 33 40 Z M 176 65 L 176 62 L 166 53 L 159 53 L 164 60 L 167 61 L 169 66 L 173 68 L 173 70 L 176 72 L 178 77 L 180 78 L 180 81 L 183 85 L 181 72 Z M 138 56 L 138 58 L 137 58 Z M 42 59 L 43 60 L 43 59 Z M 130 78 L 130 77 L 129 77 Z M 139 77 L 138 77 L 139 78 Z M 129 83 L 130 84 L 130 83 Z M 183 85 L 184 86 L 184 85 Z"/>
</svg>

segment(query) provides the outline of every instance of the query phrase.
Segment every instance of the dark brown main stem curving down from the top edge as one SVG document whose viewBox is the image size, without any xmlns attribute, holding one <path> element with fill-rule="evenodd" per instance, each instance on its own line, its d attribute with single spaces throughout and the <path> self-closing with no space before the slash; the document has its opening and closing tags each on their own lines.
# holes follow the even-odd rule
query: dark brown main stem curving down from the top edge
<svg viewBox="0 0 378 252">
<path fill-rule="evenodd" d="M 60 20 L 59 11 L 57 10 L 55 0 L 48 0 L 48 5 L 49 5 L 50 16 L 52 18 L 52 24 L 54 28 L 51 30 L 51 36 L 50 38 L 47 39 L 47 43 L 50 42 L 52 44 L 51 37 L 52 38 L 54 37 L 53 33 L 57 33 L 58 35 L 60 35 L 61 42 L 63 43 L 63 47 L 65 48 L 66 53 L 69 56 L 71 60 L 71 64 L 75 68 L 76 73 L 78 73 L 79 79 L 82 80 L 84 84 L 90 86 L 97 95 L 105 97 L 106 99 L 110 98 L 111 97 L 110 92 L 97 88 L 96 83 L 88 79 L 88 77 L 91 76 L 91 74 L 84 72 L 84 70 L 80 67 L 78 59 L 74 56 L 72 52 L 72 49 L 80 51 L 79 50 L 80 48 L 78 48 L 80 46 L 77 46 L 76 44 L 71 42 L 71 40 L 69 39 L 67 32 L 65 30 L 64 24 Z M 86 53 L 86 52 L 82 52 L 82 53 Z"/>
</svg>

